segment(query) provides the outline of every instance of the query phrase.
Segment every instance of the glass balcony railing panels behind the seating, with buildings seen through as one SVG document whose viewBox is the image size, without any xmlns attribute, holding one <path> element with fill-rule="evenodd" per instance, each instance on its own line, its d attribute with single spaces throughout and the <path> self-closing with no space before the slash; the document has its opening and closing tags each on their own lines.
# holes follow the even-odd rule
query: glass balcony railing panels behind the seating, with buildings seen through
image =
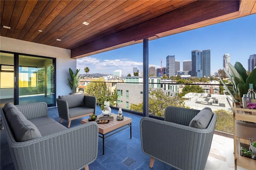
<svg viewBox="0 0 256 170">
<path fill-rule="evenodd" d="M 108 83 L 111 86 L 108 86 Z M 112 86 L 113 83 L 115 87 Z M 112 93 L 114 89 L 117 91 L 118 98 L 114 107 L 143 113 L 143 83 L 109 81 L 106 85 L 111 87 Z M 215 130 L 233 134 L 232 96 L 220 95 L 221 86 L 219 84 L 179 84 L 168 81 L 149 83 L 148 114 L 157 119 L 163 119 L 164 109 L 167 106 L 198 110 L 209 107 L 218 115 Z"/>
</svg>

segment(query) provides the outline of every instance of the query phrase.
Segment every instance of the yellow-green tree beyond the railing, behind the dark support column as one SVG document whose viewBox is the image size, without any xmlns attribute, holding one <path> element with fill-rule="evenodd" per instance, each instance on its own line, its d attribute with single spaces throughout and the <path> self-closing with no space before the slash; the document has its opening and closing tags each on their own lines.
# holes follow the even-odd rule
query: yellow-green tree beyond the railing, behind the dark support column
<svg viewBox="0 0 256 170">
<path fill-rule="evenodd" d="M 162 89 L 154 89 L 149 94 L 148 112 L 150 115 L 164 117 L 164 109 L 167 106 L 186 107 L 184 100 L 178 96 L 168 96 L 164 94 Z M 188 107 L 187 107 L 188 108 Z M 143 102 L 130 105 L 133 111 L 143 112 Z"/>
</svg>

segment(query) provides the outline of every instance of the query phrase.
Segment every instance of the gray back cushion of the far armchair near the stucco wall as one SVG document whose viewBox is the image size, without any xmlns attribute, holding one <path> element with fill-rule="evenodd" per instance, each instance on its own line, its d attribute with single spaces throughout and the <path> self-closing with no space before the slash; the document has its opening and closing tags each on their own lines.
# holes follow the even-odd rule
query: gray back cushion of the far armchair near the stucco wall
<svg viewBox="0 0 256 170">
<path fill-rule="evenodd" d="M 59 99 L 68 102 L 68 108 L 84 106 L 84 94 L 59 96 Z"/>
</svg>

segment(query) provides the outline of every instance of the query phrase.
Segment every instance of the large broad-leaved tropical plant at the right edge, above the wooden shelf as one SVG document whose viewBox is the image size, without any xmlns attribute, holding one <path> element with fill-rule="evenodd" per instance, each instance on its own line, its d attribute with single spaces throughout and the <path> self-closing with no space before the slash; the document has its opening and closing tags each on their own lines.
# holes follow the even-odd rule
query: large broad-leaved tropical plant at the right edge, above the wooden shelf
<svg viewBox="0 0 256 170">
<path fill-rule="evenodd" d="M 230 70 L 230 73 L 225 69 L 225 73 L 230 79 L 232 85 L 233 85 L 233 90 L 228 87 L 226 83 L 219 77 L 221 83 L 224 85 L 224 89 L 233 97 L 240 97 L 242 98 L 244 94 L 248 93 L 248 89 L 250 87 L 250 83 L 254 85 L 254 91 L 256 89 L 256 68 L 252 70 L 250 75 L 248 76 L 246 74 L 246 69 L 242 66 L 240 62 L 236 62 L 235 65 L 231 65 L 228 63 L 228 67 Z"/>
</svg>

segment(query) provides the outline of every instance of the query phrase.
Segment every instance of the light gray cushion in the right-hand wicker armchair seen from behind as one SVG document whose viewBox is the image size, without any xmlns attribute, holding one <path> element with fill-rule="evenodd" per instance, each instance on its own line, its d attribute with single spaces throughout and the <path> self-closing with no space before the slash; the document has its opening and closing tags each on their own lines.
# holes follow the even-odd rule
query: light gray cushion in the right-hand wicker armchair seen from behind
<svg viewBox="0 0 256 170">
<path fill-rule="evenodd" d="M 190 121 L 189 126 L 194 128 L 207 128 L 212 120 L 212 116 L 212 109 L 205 107 Z"/>
</svg>

